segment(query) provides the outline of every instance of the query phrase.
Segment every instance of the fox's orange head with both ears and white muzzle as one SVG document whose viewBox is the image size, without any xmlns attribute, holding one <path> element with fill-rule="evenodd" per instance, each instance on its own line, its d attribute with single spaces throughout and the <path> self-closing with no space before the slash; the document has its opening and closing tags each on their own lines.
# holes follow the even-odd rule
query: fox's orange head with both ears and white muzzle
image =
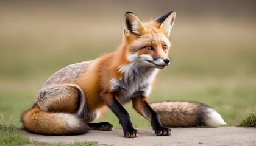
<svg viewBox="0 0 256 146">
<path fill-rule="evenodd" d="M 171 43 L 168 38 L 174 24 L 174 11 L 154 21 L 142 23 L 132 12 L 124 15 L 124 36 L 127 42 L 127 60 L 140 66 L 163 69 L 170 64 Z"/>
</svg>

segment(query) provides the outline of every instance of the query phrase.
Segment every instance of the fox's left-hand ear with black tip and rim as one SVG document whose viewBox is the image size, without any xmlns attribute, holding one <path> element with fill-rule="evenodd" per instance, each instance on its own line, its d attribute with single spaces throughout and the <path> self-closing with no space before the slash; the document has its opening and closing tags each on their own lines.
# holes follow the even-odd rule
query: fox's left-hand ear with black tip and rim
<svg viewBox="0 0 256 146">
<path fill-rule="evenodd" d="M 145 26 L 132 12 L 126 12 L 124 15 L 124 35 L 130 36 L 131 34 L 142 35 Z"/>
</svg>

